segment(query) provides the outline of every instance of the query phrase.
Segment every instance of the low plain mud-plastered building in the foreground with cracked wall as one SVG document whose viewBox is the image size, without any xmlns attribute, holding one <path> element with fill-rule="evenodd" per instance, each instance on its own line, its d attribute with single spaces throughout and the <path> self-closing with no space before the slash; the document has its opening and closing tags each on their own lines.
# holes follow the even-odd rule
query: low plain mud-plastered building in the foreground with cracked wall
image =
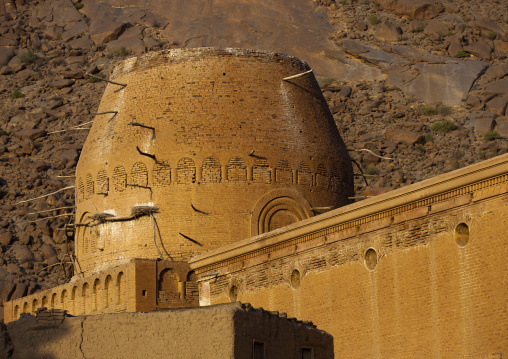
<svg viewBox="0 0 508 359">
<path fill-rule="evenodd" d="M 333 358 L 333 338 L 328 333 L 240 303 L 148 313 L 62 314 L 42 311 L 35 317 L 24 315 L 7 328 L 2 324 L 0 355 L 13 359 Z"/>
</svg>

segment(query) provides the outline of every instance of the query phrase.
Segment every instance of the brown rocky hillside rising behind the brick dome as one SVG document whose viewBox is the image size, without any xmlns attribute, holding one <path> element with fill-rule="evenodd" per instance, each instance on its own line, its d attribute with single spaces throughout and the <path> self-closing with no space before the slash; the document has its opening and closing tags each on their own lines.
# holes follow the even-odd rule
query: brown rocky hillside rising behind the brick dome
<svg viewBox="0 0 508 359">
<path fill-rule="evenodd" d="M 238 46 L 308 61 L 357 200 L 508 150 L 505 1 L 131 2 L 0 0 L 0 303 L 72 275 L 68 187 L 100 78 L 126 56 Z"/>
</svg>

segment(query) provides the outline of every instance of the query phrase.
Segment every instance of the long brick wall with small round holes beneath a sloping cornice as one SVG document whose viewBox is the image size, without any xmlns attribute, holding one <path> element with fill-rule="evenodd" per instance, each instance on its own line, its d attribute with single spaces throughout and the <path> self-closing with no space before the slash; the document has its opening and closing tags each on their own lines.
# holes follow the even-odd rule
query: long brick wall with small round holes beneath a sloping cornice
<svg viewBox="0 0 508 359">
<path fill-rule="evenodd" d="M 335 357 L 508 353 L 508 155 L 191 260 L 202 305 L 312 320 Z M 216 273 L 203 277 L 208 273 Z"/>
</svg>

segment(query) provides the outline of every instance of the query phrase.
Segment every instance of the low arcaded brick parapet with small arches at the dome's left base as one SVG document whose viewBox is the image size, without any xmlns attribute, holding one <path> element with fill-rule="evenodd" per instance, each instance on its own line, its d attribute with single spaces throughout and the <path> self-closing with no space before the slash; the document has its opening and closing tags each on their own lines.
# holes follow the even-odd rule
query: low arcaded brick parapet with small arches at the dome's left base
<svg viewBox="0 0 508 359">
<path fill-rule="evenodd" d="M 134 259 L 100 274 L 7 302 L 5 322 L 37 309 L 72 315 L 138 312 L 198 305 L 196 275 L 185 262 Z"/>
</svg>

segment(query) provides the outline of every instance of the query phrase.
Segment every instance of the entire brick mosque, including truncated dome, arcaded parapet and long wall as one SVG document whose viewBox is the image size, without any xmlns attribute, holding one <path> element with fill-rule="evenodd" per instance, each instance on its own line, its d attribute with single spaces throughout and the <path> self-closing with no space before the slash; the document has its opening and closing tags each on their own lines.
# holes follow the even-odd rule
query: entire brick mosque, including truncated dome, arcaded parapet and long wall
<svg viewBox="0 0 508 359">
<path fill-rule="evenodd" d="M 508 155 L 356 203 L 353 182 L 306 63 L 126 59 L 76 170 L 75 275 L 5 321 L 240 301 L 314 322 L 337 358 L 508 353 Z"/>
</svg>

